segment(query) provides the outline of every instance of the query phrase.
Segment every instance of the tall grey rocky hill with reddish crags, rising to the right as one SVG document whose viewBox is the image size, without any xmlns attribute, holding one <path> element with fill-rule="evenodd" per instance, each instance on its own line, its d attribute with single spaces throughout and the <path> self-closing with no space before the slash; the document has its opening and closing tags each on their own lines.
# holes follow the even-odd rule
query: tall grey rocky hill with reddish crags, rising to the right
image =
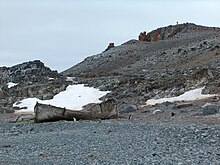
<svg viewBox="0 0 220 165">
<path fill-rule="evenodd" d="M 203 93 L 220 94 L 219 64 L 220 28 L 186 23 L 141 33 L 62 74 L 113 91 L 107 97 L 117 98 L 122 109 L 137 109 L 148 99 L 203 86 Z"/>
</svg>

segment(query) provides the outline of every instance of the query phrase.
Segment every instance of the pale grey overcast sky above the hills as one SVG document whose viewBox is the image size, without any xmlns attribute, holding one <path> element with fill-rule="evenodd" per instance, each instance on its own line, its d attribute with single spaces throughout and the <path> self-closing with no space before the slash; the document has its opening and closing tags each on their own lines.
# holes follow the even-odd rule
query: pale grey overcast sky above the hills
<svg viewBox="0 0 220 165">
<path fill-rule="evenodd" d="M 40 59 L 63 71 L 141 31 L 219 19 L 220 0 L 0 0 L 0 66 Z"/>
</svg>

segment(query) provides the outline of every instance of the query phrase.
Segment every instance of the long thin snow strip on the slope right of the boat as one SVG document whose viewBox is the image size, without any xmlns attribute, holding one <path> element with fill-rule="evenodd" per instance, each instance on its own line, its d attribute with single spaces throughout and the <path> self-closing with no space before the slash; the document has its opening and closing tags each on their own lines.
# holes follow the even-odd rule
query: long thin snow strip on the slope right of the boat
<svg viewBox="0 0 220 165">
<path fill-rule="evenodd" d="M 204 88 L 205 87 L 190 90 L 190 91 L 187 91 L 184 94 L 182 94 L 180 96 L 177 96 L 177 97 L 161 98 L 161 99 L 150 99 L 150 100 L 147 100 L 146 104 L 147 105 L 155 105 L 155 104 L 161 104 L 161 103 L 164 103 L 164 102 L 194 101 L 194 100 L 201 100 L 201 99 L 217 96 L 217 95 L 209 95 L 209 94 L 208 95 L 203 95 L 202 90 Z"/>
</svg>

